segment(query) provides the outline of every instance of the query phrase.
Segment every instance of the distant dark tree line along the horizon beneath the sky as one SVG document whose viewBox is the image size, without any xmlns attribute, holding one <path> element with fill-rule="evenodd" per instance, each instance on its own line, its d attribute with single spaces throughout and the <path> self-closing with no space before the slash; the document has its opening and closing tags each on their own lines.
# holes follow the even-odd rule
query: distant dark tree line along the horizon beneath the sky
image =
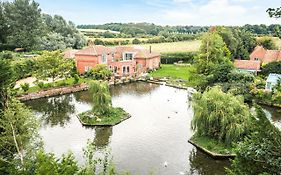
<svg viewBox="0 0 281 175">
<path fill-rule="evenodd" d="M 160 26 L 153 23 L 107 23 L 102 25 L 78 25 L 80 29 L 103 29 L 118 31 L 120 33 L 101 33 L 100 36 L 105 38 L 114 38 L 119 36 L 125 37 L 147 37 L 147 36 L 158 36 L 161 32 L 166 33 L 185 33 L 185 34 L 199 34 L 204 33 L 209 30 L 212 26 Z M 271 24 L 271 25 L 250 25 L 246 24 L 244 26 L 230 26 L 230 28 L 240 28 L 251 32 L 254 35 L 272 35 L 274 37 L 281 37 L 281 25 Z"/>
</svg>

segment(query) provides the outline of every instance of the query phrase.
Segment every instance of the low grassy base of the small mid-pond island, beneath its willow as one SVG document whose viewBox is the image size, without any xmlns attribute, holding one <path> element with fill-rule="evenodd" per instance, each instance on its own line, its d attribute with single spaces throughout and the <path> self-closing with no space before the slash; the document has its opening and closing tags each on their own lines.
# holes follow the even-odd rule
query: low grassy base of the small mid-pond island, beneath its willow
<svg viewBox="0 0 281 175">
<path fill-rule="evenodd" d="M 129 114 L 122 108 L 112 108 L 111 111 L 104 115 L 95 115 L 92 111 L 83 112 L 78 115 L 80 121 L 86 125 L 93 126 L 113 126 L 129 117 Z"/>
</svg>

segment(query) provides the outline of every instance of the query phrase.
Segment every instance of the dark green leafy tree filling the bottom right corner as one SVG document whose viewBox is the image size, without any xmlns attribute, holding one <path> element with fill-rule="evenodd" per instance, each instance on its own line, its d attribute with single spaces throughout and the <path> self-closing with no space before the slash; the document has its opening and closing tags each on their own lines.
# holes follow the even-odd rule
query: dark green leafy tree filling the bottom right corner
<svg viewBox="0 0 281 175">
<path fill-rule="evenodd" d="M 228 174 L 280 174 L 281 131 L 267 119 L 261 107 L 256 106 L 257 120 L 251 134 L 238 145 L 236 158 Z"/>
</svg>

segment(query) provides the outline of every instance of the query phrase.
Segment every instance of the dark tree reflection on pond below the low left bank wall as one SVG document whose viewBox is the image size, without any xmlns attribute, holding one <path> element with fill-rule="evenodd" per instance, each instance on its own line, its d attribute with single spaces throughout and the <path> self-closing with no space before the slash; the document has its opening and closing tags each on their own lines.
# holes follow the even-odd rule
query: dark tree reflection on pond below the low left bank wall
<svg viewBox="0 0 281 175">
<path fill-rule="evenodd" d="M 70 115 L 75 112 L 73 95 L 60 97 L 42 98 L 36 101 L 26 102 L 35 112 L 42 115 L 43 126 L 65 126 L 71 119 Z"/>
</svg>

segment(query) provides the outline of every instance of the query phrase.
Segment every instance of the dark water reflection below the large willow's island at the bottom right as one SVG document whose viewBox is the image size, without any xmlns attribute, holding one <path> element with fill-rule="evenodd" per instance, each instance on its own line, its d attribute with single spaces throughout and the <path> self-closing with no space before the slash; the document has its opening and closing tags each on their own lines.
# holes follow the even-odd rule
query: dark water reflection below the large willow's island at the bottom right
<svg viewBox="0 0 281 175">
<path fill-rule="evenodd" d="M 229 167 L 227 160 L 214 160 L 203 152 L 192 149 L 189 156 L 190 174 L 224 175 L 225 167 Z"/>
</svg>

